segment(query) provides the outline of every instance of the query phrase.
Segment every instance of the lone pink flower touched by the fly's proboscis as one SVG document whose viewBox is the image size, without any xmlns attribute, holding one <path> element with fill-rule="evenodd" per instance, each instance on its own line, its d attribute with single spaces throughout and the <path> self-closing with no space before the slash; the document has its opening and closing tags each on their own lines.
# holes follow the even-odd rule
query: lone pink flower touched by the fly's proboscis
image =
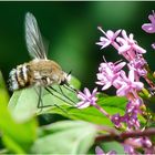
<svg viewBox="0 0 155 155">
<path fill-rule="evenodd" d="M 95 96 L 97 93 L 97 89 L 94 89 L 91 93 L 87 87 L 84 89 L 84 93 L 79 92 L 78 97 L 81 100 L 78 104 L 78 108 L 85 108 L 90 105 L 96 104 L 97 97 Z"/>
</svg>

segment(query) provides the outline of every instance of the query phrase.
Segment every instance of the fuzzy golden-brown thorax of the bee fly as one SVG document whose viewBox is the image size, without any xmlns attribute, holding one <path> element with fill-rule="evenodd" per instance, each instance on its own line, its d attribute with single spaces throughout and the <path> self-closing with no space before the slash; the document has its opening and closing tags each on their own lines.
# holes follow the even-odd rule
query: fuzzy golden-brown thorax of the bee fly
<svg viewBox="0 0 155 155">
<path fill-rule="evenodd" d="M 51 60 L 33 60 L 29 63 L 31 83 L 37 85 L 60 84 L 64 80 L 64 72 L 58 63 Z"/>
</svg>

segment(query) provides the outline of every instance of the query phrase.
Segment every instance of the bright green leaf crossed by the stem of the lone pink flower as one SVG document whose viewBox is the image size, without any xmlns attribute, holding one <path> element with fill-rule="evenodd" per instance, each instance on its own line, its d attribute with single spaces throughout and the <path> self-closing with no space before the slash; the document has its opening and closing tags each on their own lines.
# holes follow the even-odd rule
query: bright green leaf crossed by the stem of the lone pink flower
<svg viewBox="0 0 155 155">
<path fill-rule="evenodd" d="M 118 96 L 102 96 L 100 95 L 97 104 L 102 106 L 108 114 L 113 115 L 120 113 L 121 115 L 125 112 L 125 105 L 127 100 Z M 95 124 L 113 126 L 113 123 L 103 115 L 99 110 L 93 106 L 87 108 L 79 110 L 70 106 L 62 106 L 63 111 L 58 107 L 49 110 L 49 113 L 58 113 L 72 120 L 83 120 Z M 66 112 L 64 112 L 66 111 Z"/>
</svg>

